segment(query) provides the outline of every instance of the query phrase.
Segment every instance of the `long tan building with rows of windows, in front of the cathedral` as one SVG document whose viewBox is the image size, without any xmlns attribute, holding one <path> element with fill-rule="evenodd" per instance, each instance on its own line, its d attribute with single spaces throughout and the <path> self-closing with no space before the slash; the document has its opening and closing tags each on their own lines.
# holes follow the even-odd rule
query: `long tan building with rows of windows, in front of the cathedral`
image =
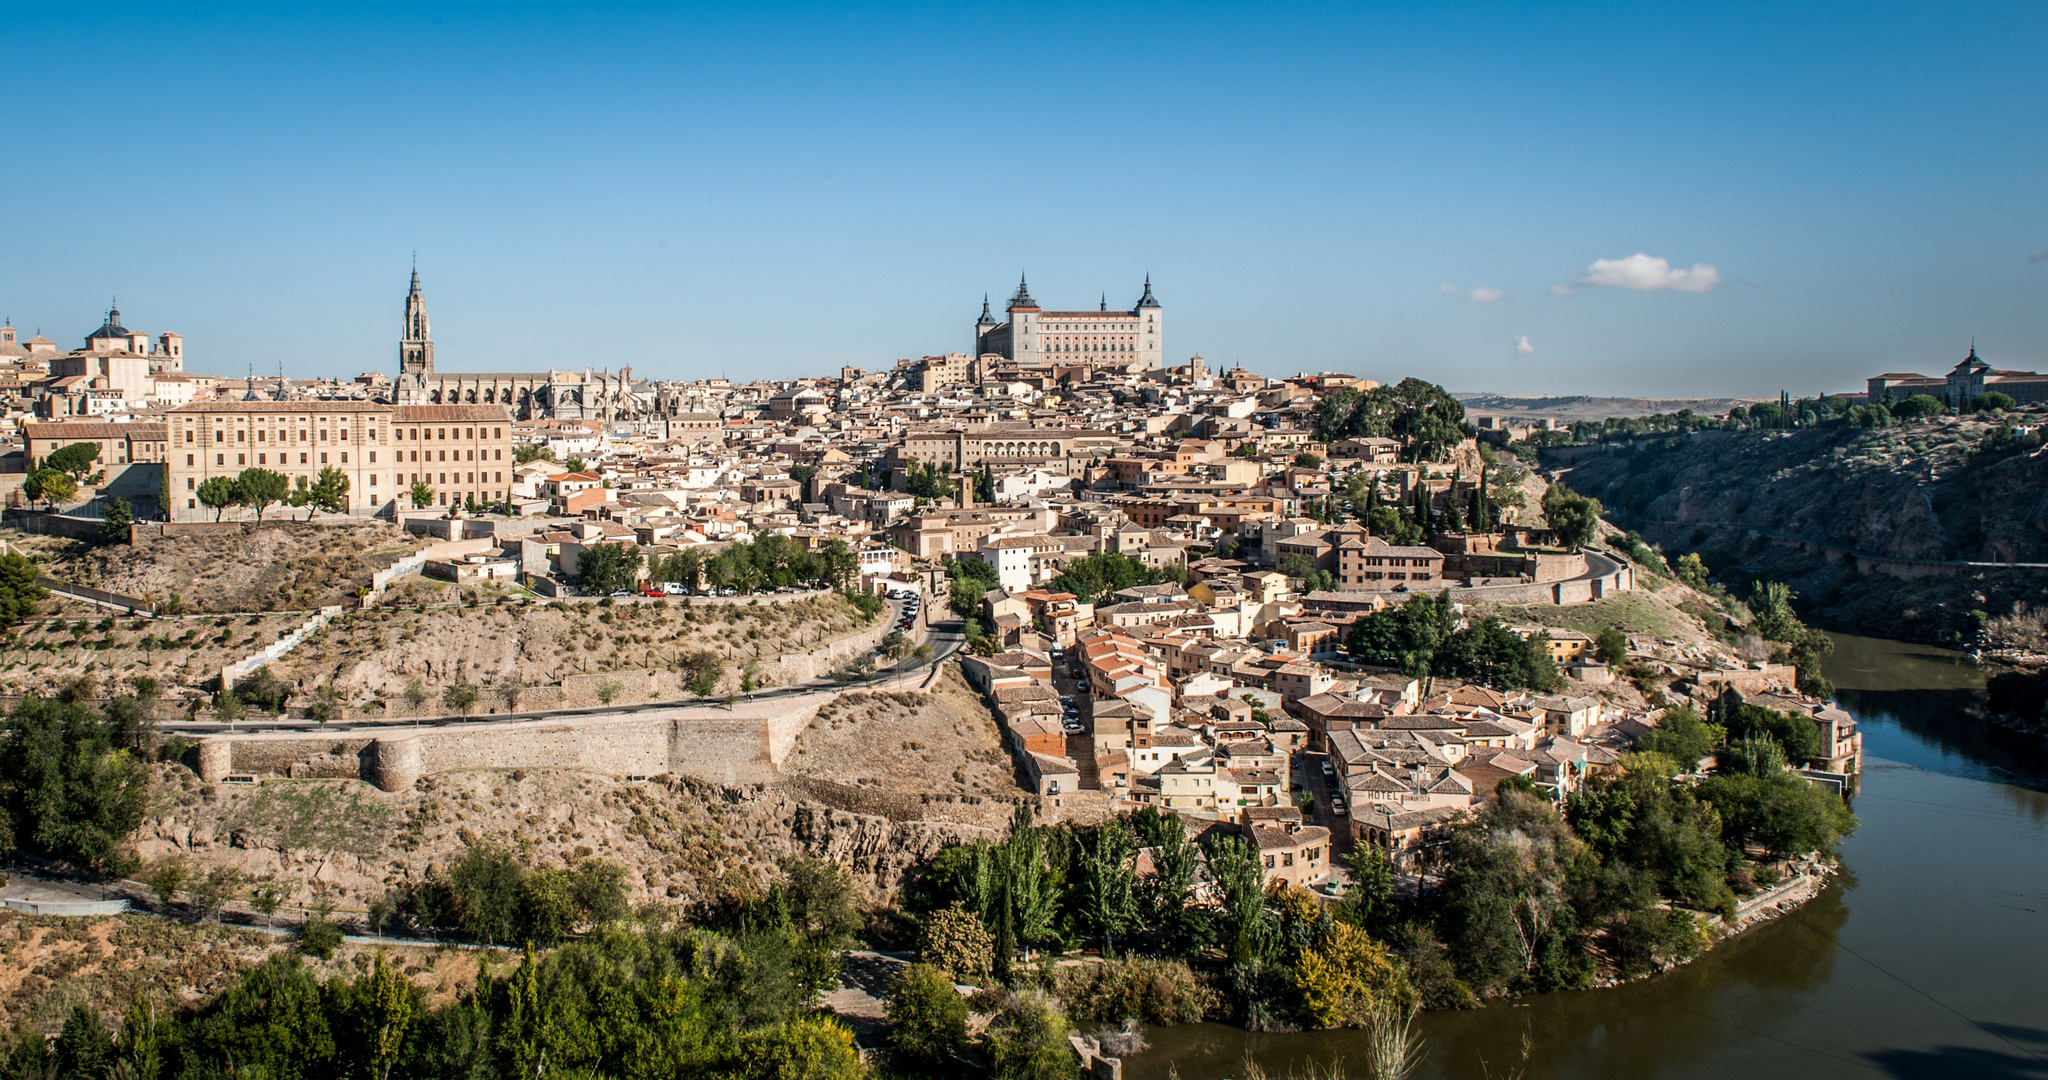
<svg viewBox="0 0 2048 1080">
<path fill-rule="evenodd" d="M 170 518 L 213 521 L 199 486 L 242 469 L 348 477 L 348 512 L 412 506 L 424 484 L 432 506 L 512 496 L 512 416 L 504 406 L 391 406 L 385 402 L 195 402 L 166 416 Z"/>
</svg>

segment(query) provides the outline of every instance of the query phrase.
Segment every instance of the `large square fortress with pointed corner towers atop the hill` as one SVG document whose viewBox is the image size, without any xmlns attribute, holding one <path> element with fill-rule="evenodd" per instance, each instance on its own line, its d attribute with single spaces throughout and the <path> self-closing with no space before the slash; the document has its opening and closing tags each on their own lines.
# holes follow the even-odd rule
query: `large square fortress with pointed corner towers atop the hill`
<svg viewBox="0 0 2048 1080">
<path fill-rule="evenodd" d="M 1163 367 L 1165 350 L 1159 342 L 1165 314 L 1151 295 L 1151 275 L 1145 277 L 1145 295 L 1128 311 L 1110 311 L 1108 297 L 1096 311 L 1044 311 L 1018 279 L 1006 314 L 1010 322 L 995 322 L 989 301 L 981 301 L 975 357 L 1001 357 L 1020 367 Z"/>
</svg>

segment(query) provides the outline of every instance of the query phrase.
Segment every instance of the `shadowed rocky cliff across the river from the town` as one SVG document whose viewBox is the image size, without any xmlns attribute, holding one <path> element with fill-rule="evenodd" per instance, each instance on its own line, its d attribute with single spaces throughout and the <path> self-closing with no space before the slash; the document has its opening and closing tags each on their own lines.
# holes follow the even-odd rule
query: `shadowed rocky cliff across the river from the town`
<svg viewBox="0 0 2048 1080">
<path fill-rule="evenodd" d="M 1694 432 L 1573 447 L 1544 467 L 1669 557 L 1731 582 L 1780 578 L 1821 625 L 1968 641 L 2038 637 L 2048 574 L 2042 416 L 1948 416 L 1890 428 Z"/>
</svg>

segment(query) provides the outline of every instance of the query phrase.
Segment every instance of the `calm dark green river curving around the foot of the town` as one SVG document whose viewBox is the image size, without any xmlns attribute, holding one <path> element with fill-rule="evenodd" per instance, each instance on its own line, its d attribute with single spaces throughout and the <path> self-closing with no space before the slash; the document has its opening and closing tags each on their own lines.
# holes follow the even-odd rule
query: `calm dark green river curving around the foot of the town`
<svg viewBox="0 0 2048 1080">
<path fill-rule="evenodd" d="M 1417 1076 L 2048 1078 L 2048 758 L 1985 734 L 1954 654 L 1837 635 L 1829 678 L 1864 725 L 1862 830 L 1812 904 L 1616 990 L 1417 1021 Z M 1352 1033 L 1155 1029 L 1130 1080 L 1362 1060 Z"/>
</svg>

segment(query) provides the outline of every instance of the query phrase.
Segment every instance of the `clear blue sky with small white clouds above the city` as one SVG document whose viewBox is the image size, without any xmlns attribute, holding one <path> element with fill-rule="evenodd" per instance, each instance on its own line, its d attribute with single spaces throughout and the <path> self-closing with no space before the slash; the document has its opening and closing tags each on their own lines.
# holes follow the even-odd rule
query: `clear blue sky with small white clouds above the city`
<svg viewBox="0 0 2048 1080">
<path fill-rule="evenodd" d="M 193 367 L 795 377 L 1028 271 L 1174 359 L 1509 393 L 2048 367 L 2042 4 L 0 16 L 0 314 Z M 1645 258 L 1634 258 L 1634 256 Z M 1663 260 L 1663 262 L 1659 262 Z"/>
</svg>

